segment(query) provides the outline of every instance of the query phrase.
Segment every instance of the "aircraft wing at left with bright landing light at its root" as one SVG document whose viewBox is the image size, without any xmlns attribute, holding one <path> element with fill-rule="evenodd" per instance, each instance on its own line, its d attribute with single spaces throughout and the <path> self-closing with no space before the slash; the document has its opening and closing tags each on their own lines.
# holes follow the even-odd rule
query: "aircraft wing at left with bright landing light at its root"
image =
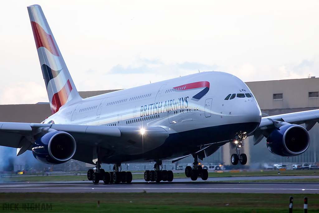
<svg viewBox="0 0 319 213">
<path fill-rule="evenodd" d="M 92 163 L 91 157 L 90 160 L 86 159 L 86 156 L 92 156 L 92 147 L 105 148 L 118 154 L 137 155 L 159 147 L 169 135 L 165 127 L 161 126 L 145 127 L 145 132 L 142 132 L 137 126 L 0 122 L 0 145 L 20 148 L 20 155 L 26 150 L 31 150 L 37 138 L 56 130 L 72 135 L 77 143 L 77 151 L 73 158 L 87 163 Z"/>
</svg>

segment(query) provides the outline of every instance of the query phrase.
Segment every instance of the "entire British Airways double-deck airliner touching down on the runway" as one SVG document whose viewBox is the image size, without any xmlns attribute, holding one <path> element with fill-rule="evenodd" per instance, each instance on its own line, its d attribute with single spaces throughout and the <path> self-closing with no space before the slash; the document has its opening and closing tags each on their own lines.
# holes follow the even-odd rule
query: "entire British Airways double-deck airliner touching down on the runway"
<svg viewBox="0 0 319 213">
<path fill-rule="evenodd" d="M 36 159 L 61 164 L 70 159 L 96 165 L 87 177 L 93 183 L 132 181 L 121 163 L 156 162 L 145 181 L 172 181 L 162 161 L 192 155 L 192 180 L 208 178 L 198 166 L 220 146 L 231 143 L 232 164 L 246 164 L 243 140 L 254 145 L 267 137 L 268 149 L 295 156 L 309 147 L 309 134 L 319 110 L 261 116 L 258 103 L 239 78 L 224 72 L 202 72 L 140 87 L 82 99 L 73 83 L 48 22 L 39 5 L 27 7 L 52 115 L 41 124 L 0 122 L 0 145 L 32 150 Z M 300 126 L 299 124 L 304 124 Z M 105 172 L 101 164 L 114 164 Z"/>
</svg>

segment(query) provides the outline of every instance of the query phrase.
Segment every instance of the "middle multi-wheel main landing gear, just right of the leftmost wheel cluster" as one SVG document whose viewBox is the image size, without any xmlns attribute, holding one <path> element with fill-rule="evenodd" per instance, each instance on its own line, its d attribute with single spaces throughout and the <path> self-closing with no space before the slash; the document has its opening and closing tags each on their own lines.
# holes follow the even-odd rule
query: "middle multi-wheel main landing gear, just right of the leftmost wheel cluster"
<svg viewBox="0 0 319 213">
<path fill-rule="evenodd" d="M 161 167 L 161 168 L 159 168 Z M 162 160 L 156 160 L 154 164 L 154 170 L 146 170 L 144 172 L 144 179 L 145 181 L 152 181 L 159 183 L 160 181 L 168 181 L 172 182 L 174 179 L 173 171 L 169 170 L 162 170 L 163 164 Z"/>
</svg>

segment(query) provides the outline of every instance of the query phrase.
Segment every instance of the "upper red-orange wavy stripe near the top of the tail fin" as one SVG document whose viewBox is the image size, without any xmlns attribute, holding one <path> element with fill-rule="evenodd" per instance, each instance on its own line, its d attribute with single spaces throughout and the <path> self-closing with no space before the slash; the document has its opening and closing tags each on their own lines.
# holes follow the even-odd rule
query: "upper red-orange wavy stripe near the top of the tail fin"
<svg viewBox="0 0 319 213">
<path fill-rule="evenodd" d="M 37 49 L 44 47 L 48 49 L 53 55 L 59 56 L 56 45 L 53 42 L 52 36 L 47 34 L 44 29 L 36 22 L 31 21 L 33 36 Z"/>
</svg>

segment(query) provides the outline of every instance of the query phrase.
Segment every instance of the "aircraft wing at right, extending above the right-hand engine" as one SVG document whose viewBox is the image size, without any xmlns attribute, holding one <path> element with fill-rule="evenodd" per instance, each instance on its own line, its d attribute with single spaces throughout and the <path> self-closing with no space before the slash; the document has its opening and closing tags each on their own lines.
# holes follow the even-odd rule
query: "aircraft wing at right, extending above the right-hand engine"
<svg viewBox="0 0 319 213">
<path fill-rule="evenodd" d="M 277 127 L 277 124 L 282 122 L 299 125 L 305 124 L 305 128 L 307 131 L 309 131 L 316 124 L 316 122 L 319 122 L 319 110 L 308 110 L 263 117 L 261 119 L 260 125 L 253 133 L 254 145 L 263 139 L 264 135 L 267 134 L 267 130 L 271 131 Z"/>
</svg>

